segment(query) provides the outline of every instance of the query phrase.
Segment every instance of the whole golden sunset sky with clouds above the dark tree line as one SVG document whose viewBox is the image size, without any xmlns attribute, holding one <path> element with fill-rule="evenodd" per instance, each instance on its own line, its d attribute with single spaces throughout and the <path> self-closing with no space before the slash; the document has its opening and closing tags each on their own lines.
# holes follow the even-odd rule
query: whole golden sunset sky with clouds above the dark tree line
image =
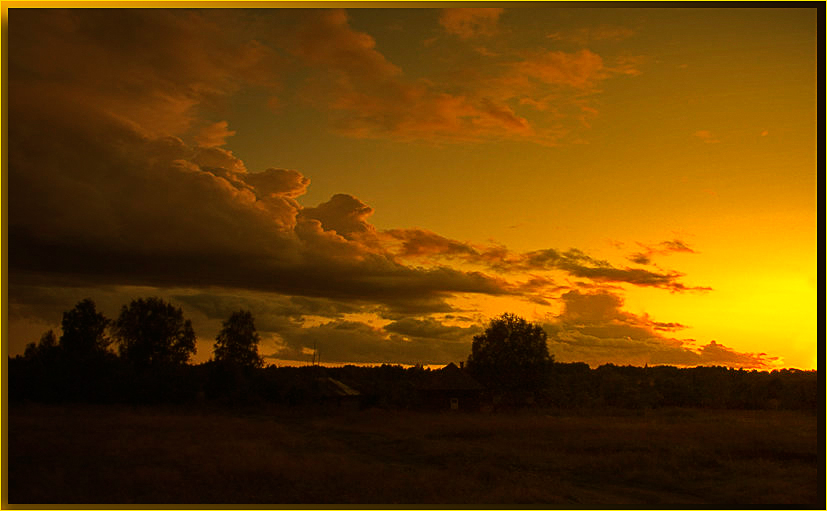
<svg viewBox="0 0 827 511">
<path fill-rule="evenodd" d="M 514 312 L 563 362 L 816 368 L 815 8 L 11 5 L 9 355 L 160 296 L 195 362 L 243 308 L 268 363 Z"/>
</svg>

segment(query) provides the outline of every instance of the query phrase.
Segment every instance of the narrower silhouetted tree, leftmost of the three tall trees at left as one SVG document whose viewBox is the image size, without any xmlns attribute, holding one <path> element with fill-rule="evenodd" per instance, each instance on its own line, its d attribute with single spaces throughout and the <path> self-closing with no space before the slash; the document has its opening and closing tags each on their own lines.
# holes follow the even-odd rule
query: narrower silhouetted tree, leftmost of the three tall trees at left
<svg viewBox="0 0 827 511">
<path fill-rule="evenodd" d="M 63 313 L 60 347 L 70 360 L 89 359 L 106 352 L 110 340 L 106 329 L 111 321 L 95 309 L 95 302 L 85 298 Z"/>
</svg>

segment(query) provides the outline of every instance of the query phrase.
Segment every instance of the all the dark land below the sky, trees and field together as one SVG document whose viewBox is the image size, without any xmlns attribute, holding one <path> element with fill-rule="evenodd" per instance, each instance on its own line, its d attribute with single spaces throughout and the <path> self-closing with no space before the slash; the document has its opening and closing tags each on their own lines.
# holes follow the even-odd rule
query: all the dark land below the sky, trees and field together
<svg viewBox="0 0 827 511">
<path fill-rule="evenodd" d="M 198 365 L 159 299 L 62 330 L 8 361 L 11 504 L 825 504 L 815 371 L 561 364 L 503 315 L 450 367 L 468 407 L 422 367 L 262 367 L 248 311 Z"/>
</svg>

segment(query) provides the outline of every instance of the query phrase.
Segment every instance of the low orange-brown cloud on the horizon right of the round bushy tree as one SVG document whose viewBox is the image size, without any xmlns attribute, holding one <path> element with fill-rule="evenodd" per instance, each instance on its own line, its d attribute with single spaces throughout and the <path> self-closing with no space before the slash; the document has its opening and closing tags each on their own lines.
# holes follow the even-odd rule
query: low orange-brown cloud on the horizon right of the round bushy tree
<svg viewBox="0 0 827 511">
<path fill-rule="evenodd" d="M 561 362 L 667 364 L 679 366 L 727 365 L 763 369 L 772 359 L 765 354 L 740 353 L 711 341 L 697 348 L 691 339 L 664 337 L 678 323 L 660 323 L 621 309 L 623 300 L 608 291 L 562 296 L 563 312 L 545 326 L 549 351 Z"/>
</svg>

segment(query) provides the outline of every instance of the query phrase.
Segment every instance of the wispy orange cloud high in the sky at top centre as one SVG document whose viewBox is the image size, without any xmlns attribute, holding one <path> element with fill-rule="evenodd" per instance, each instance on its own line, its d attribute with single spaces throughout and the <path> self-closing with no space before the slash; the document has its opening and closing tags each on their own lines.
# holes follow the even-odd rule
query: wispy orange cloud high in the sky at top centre
<svg viewBox="0 0 827 511">
<path fill-rule="evenodd" d="M 491 32 L 482 27 L 496 21 L 498 12 L 448 9 L 443 17 L 463 34 L 480 34 Z M 289 51 L 317 73 L 303 95 L 335 113 L 339 133 L 356 138 L 522 139 L 554 145 L 596 114 L 586 97 L 597 93 L 599 83 L 637 72 L 630 59 L 606 63 L 589 50 L 540 50 L 503 57 L 495 76 L 462 83 L 413 80 L 377 51 L 369 34 L 352 28 L 344 11 L 312 12 L 305 18 L 288 44 Z M 342 49 L 330 49 L 337 47 Z M 530 121 L 521 112 L 525 106 L 553 115 L 545 122 Z M 568 126 L 572 122 L 574 126 Z"/>
</svg>

